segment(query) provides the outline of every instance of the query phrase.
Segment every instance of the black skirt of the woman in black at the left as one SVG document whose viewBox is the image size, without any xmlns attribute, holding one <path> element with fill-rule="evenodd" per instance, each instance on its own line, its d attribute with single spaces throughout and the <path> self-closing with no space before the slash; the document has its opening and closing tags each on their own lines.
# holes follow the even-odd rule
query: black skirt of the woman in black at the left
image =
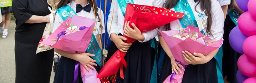
<svg viewBox="0 0 256 83">
<path fill-rule="evenodd" d="M 49 83 L 54 50 L 35 55 L 38 44 L 15 42 L 15 83 Z"/>
</svg>

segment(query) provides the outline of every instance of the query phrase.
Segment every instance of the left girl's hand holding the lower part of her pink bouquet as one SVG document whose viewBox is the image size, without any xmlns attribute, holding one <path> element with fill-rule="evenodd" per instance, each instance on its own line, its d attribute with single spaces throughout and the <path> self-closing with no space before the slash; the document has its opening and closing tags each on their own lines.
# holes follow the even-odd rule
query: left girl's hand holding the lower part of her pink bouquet
<svg viewBox="0 0 256 83">
<path fill-rule="evenodd" d="M 81 54 L 78 54 L 78 60 L 76 60 L 76 61 L 79 61 L 79 63 L 82 64 L 88 72 L 89 72 L 88 67 L 90 69 L 95 70 L 93 66 L 97 66 L 97 64 L 95 64 L 96 61 L 90 58 L 89 56 L 93 57 L 94 55 L 90 53 L 81 53 Z"/>
</svg>

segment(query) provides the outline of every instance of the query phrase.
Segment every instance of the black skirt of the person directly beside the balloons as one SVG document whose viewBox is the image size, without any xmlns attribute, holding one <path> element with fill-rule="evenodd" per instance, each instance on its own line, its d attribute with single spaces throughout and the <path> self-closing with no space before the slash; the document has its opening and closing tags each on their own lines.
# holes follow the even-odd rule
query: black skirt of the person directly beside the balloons
<svg viewBox="0 0 256 83">
<path fill-rule="evenodd" d="M 224 25 L 224 35 L 223 35 L 223 58 L 222 58 L 222 69 L 223 77 L 227 76 L 227 81 L 230 83 L 237 83 L 236 72 L 238 70 L 237 60 L 242 55 L 237 53 L 230 46 L 228 36 L 230 31 L 236 27 L 235 23 L 232 21 L 229 15 L 227 15 Z"/>
</svg>

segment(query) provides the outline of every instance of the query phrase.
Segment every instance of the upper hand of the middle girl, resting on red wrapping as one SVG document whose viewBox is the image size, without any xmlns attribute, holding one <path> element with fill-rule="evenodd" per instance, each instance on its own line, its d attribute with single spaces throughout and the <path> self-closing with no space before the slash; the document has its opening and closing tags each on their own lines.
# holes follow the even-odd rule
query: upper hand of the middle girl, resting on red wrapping
<svg viewBox="0 0 256 83">
<path fill-rule="evenodd" d="M 129 26 L 129 24 L 130 24 L 130 21 L 125 22 L 124 35 L 132 39 L 143 41 L 145 38 L 141 34 L 140 30 L 136 27 L 136 25 L 134 25 L 134 23 L 131 23 L 132 27 L 134 28 L 132 29 Z"/>
</svg>

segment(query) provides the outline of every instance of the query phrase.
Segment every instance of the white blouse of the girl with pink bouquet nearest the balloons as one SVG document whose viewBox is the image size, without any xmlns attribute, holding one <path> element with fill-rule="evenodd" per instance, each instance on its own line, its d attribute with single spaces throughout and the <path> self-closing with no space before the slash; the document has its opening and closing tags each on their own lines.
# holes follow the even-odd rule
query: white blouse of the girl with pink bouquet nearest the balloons
<svg viewBox="0 0 256 83">
<path fill-rule="evenodd" d="M 198 12 L 195 11 L 195 5 L 197 3 L 194 2 L 194 0 L 187 0 L 193 13 L 194 16 L 197 17 L 198 16 L 198 12 L 203 12 L 201 11 L 200 8 L 200 4 L 198 6 L 196 6 L 196 9 Z M 171 8 L 171 10 L 175 10 L 174 8 Z M 206 11 L 205 11 L 206 12 Z M 210 29 L 210 32 L 212 33 L 213 36 L 208 36 L 211 39 L 214 39 L 215 37 L 217 37 L 215 40 L 219 40 L 222 39 L 222 36 L 224 34 L 224 13 L 221 9 L 221 6 L 219 4 L 219 2 L 217 0 L 212 0 L 212 26 Z M 177 30 L 177 27 L 181 27 L 180 21 L 179 20 L 175 20 L 173 22 L 170 22 L 170 28 L 171 30 Z M 160 30 L 165 30 L 163 27 L 160 28 Z M 204 28 L 204 33 L 207 33 L 207 28 Z"/>
</svg>

